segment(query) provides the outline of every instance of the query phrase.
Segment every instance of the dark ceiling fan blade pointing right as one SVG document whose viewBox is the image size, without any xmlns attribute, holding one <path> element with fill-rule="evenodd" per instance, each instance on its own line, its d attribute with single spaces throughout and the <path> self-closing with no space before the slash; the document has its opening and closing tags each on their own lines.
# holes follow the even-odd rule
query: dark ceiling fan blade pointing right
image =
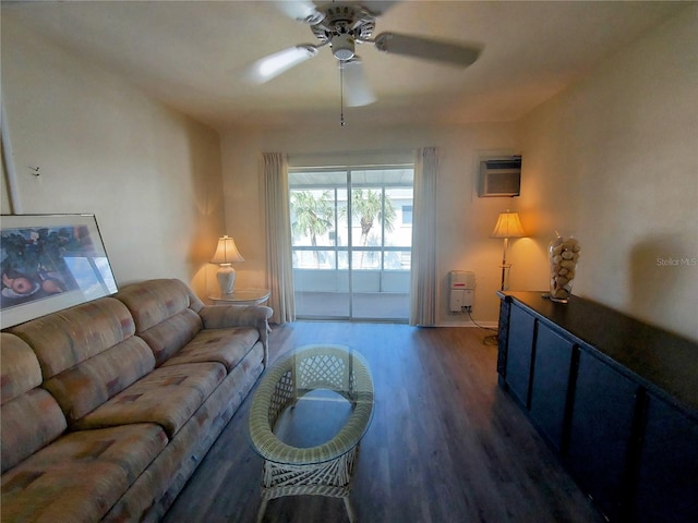
<svg viewBox="0 0 698 523">
<path fill-rule="evenodd" d="M 384 52 L 464 66 L 471 65 L 478 60 L 481 51 L 481 48 L 477 46 L 466 46 L 399 33 L 382 33 L 375 37 L 374 44 L 376 49 Z"/>
</svg>

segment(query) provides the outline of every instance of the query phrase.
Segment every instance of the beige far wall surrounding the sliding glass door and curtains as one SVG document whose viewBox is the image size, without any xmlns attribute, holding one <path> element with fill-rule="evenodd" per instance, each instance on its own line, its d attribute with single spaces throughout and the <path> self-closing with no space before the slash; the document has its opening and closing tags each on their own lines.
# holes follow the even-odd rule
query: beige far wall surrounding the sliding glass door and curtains
<svg viewBox="0 0 698 523">
<path fill-rule="evenodd" d="M 224 186 L 227 232 L 234 236 L 245 262 L 236 266 L 240 285 L 265 283 L 264 202 L 260 192 L 262 153 L 291 155 L 332 151 L 401 151 L 435 146 L 440 149 L 437 277 L 440 296 L 437 323 L 464 325 L 466 315 L 448 313 L 447 276 L 452 269 L 476 272 L 473 317 L 495 323 L 498 313 L 502 242 L 489 238 L 498 212 L 516 208 L 516 198 L 478 198 L 476 173 L 481 155 L 514 153 L 514 125 L 484 123 L 454 127 L 362 127 L 352 121 L 341 129 L 293 131 L 229 131 L 222 136 Z M 514 280 L 516 282 L 516 280 Z M 238 284 L 238 283 L 237 283 Z"/>
</svg>

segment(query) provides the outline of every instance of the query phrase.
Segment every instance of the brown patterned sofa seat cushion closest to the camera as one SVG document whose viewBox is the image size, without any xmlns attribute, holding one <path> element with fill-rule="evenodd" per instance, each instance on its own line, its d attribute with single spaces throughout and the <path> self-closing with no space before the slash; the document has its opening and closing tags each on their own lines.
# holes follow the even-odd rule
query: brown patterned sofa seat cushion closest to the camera
<svg viewBox="0 0 698 523">
<path fill-rule="evenodd" d="M 148 424 L 68 434 L 2 475 L 2 521 L 99 521 L 166 445 Z"/>
</svg>

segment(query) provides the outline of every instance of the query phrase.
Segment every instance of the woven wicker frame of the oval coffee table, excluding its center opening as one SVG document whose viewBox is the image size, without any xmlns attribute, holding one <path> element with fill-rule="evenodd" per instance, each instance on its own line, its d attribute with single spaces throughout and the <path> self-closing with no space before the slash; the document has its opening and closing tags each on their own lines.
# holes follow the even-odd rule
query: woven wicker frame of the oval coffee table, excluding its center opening
<svg viewBox="0 0 698 523">
<path fill-rule="evenodd" d="M 325 443 L 296 448 L 281 441 L 274 428 L 280 414 L 310 391 L 328 389 L 351 404 L 342 428 Z M 262 521 L 268 500 L 281 496 L 315 495 L 342 498 L 349 521 L 350 483 L 359 441 L 373 413 L 373 380 L 359 353 L 342 345 L 301 348 L 272 365 L 261 379 L 250 409 L 250 436 L 264 458 Z"/>
</svg>

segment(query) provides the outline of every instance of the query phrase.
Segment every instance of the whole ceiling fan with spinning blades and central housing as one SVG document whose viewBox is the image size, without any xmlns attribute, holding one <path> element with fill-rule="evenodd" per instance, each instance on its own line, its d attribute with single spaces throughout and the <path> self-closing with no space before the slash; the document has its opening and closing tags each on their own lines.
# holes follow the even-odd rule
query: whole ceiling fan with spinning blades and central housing
<svg viewBox="0 0 698 523">
<path fill-rule="evenodd" d="M 372 38 L 375 20 L 383 14 L 382 8 L 388 8 L 393 3 L 396 2 L 330 2 L 321 5 L 315 5 L 310 0 L 276 2 L 288 16 L 309 24 L 320 42 L 300 44 L 257 60 L 249 70 L 249 78 L 257 84 L 268 82 L 316 57 L 321 48 L 329 46 L 339 64 L 342 87 L 346 85 L 342 96 L 346 96 L 349 107 L 358 107 L 373 104 L 376 98 L 363 74 L 361 59 L 356 54 L 357 44 L 373 44 L 383 52 L 464 68 L 478 59 L 481 49 L 472 45 L 400 33 L 382 33 Z"/>
</svg>

